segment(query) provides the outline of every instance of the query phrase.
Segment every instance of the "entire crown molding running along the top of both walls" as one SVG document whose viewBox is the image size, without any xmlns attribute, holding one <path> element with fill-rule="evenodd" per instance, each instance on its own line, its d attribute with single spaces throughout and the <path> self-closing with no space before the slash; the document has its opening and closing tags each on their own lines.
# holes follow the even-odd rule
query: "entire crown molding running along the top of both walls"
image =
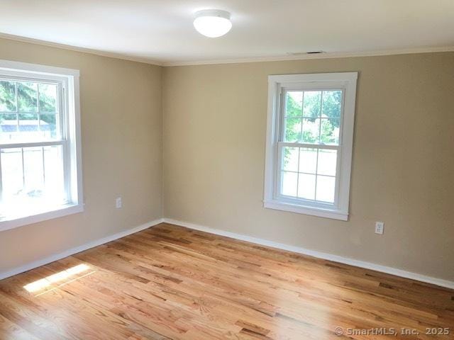
<svg viewBox="0 0 454 340">
<path fill-rule="evenodd" d="M 60 44 L 57 42 L 48 42 L 44 40 L 38 40 L 33 38 L 21 37 L 18 35 L 11 35 L 6 33 L 0 33 L 0 38 L 8 40 L 16 40 L 21 42 L 30 42 L 35 45 L 44 45 L 49 47 L 62 48 L 64 50 L 72 50 L 76 52 L 84 52 L 92 55 L 99 55 L 101 57 L 111 57 L 121 60 L 128 60 L 131 62 L 143 62 L 145 64 L 151 64 L 162 67 L 175 67 L 175 66 L 195 66 L 195 65 L 211 65 L 211 64 L 238 64 L 245 62 L 283 62 L 291 60 L 314 60 L 314 59 L 333 59 L 333 58 L 351 58 L 351 57 L 377 57 L 385 55 L 410 55 L 416 53 L 433 53 L 433 52 L 454 52 L 453 46 L 443 47 L 420 47 L 420 48 L 407 48 L 400 50 L 377 50 L 368 52 L 328 52 L 316 55 L 280 55 L 274 57 L 249 57 L 249 58 L 237 58 L 237 59 L 214 59 L 214 60 L 194 60 L 187 62 L 165 62 L 162 60 L 152 60 L 150 58 L 143 57 L 132 57 L 130 55 L 122 55 L 121 53 L 104 52 L 99 50 L 92 50 L 84 47 L 74 47 L 70 45 Z"/>
</svg>

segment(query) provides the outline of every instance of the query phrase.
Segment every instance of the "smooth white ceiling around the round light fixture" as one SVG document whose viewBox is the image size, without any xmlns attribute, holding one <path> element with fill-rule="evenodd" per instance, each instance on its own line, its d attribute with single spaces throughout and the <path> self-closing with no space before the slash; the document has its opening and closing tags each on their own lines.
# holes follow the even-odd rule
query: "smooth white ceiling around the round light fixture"
<svg viewBox="0 0 454 340">
<path fill-rule="evenodd" d="M 194 30 L 209 8 L 231 12 L 231 32 Z M 0 0 L 0 33 L 160 64 L 443 50 L 454 0 Z"/>
</svg>

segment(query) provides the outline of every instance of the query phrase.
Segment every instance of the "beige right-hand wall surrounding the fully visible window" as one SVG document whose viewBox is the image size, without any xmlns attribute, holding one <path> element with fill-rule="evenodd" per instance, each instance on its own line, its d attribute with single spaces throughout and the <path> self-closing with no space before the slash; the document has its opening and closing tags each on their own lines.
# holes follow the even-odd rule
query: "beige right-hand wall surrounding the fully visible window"
<svg viewBox="0 0 454 340">
<path fill-rule="evenodd" d="M 262 208 L 267 76 L 350 71 L 350 220 Z M 163 79 L 165 217 L 454 280 L 454 53 L 166 67 Z"/>
</svg>

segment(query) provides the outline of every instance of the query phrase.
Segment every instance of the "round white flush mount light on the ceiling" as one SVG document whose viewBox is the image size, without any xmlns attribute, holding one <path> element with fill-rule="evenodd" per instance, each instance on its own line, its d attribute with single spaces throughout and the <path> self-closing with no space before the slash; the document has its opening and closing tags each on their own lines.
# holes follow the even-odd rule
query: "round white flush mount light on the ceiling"
<svg viewBox="0 0 454 340">
<path fill-rule="evenodd" d="M 194 27 L 206 37 L 221 37 L 232 28 L 230 13 L 217 9 L 198 11 L 194 18 Z"/>
</svg>

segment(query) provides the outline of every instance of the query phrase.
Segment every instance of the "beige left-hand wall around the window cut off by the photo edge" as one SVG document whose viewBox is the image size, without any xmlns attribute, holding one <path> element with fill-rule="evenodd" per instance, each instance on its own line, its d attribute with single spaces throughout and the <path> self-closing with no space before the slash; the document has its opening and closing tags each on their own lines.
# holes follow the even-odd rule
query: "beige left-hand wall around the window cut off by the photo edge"
<svg viewBox="0 0 454 340">
<path fill-rule="evenodd" d="M 0 232 L 0 273 L 162 216 L 161 67 L 4 39 L 0 59 L 80 70 L 85 196 L 83 213 Z"/>
</svg>

